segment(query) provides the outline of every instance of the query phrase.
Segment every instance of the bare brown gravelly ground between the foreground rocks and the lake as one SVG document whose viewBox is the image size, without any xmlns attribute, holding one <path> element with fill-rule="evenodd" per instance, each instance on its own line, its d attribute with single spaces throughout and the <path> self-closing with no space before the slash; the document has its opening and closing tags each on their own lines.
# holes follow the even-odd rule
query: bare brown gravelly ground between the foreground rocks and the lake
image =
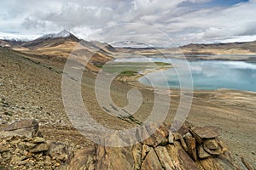
<svg viewBox="0 0 256 170">
<path fill-rule="evenodd" d="M 69 122 L 61 99 L 63 63 L 48 59 L 26 59 L 5 49 L 0 51 L 0 116 L 1 128 L 22 118 L 36 118 L 48 139 L 61 140 L 75 148 L 93 144 Z M 135 127 L 136 122 L 110 116 L 97 104 L 94 81 L 96 74 L 84 71 L 82 95 L 91 116 L 106 127 L 115 129 Z M 127 105 L 126 94 L 137 88 L 143 94 L 143 105 L 134 119 L 143 122 L 152 110 L 152 89 L 139 83 L 114 81 L 113 102 Z M 163 94 L 164 95 L 164 94 Z M 166 122 L 172 122 L 179 103 L 179 93 L 172 90 L 171 107 Z M 221 139 L 236 159 L 244 156 L 254 168 L 256 164 L 256 93 L 234 90 L 195 91 L 188 120 L 196 126 L 213 125 L 222 129 Z M 7 104 L 5 104 L 7 103 Z M 7 114 L 9 113 L 9 114 Z"/>
</svg>

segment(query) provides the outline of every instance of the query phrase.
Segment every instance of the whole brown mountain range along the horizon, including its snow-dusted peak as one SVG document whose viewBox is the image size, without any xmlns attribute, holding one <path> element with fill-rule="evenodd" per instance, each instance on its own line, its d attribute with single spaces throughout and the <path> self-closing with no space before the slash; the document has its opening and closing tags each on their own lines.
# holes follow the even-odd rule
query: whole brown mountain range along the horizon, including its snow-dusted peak
<svg viewBox="0 0 256 170">
<path fill-rule="evenodd" d="M 142 55 L 160 55 L 160 54 L 185 54 L 187 59 L 236 59 L 236 60 L 255 60 L 254 57 L 248 57 L 256 54 L 256 41 L 254 42 L 232 42 L 232 43 L 218 43 L 218 44 L 188 44 L 177 48 L 132 48 L 132 47 L 113 47 L 106 42 L 89 42 L 79 39 L 69 31 L 61 31 L 59 33 L 47 34 L 38 37 L 32 41 L 17 41 L 15 39 L 0 40 L 0 46 L 4 48 L 11 48 L 23 54 L 30 54 L 38 57 L 46 57 L 48 59 L 63 60 L 73 52 L 78 46 L 79 55 L 87 58 L 93 56 L 91 60 L 90 69 L 98 71 L 96 65 L 102 65 L 112 59 L 113 56 L 120 54 L 142 54 Z M 247 55 L 233 58 L 216 58 L 208 55 Z M 81 57 L 81 56 L 80 56 Z M 81 59 L 80 59 L 81 60 Z"/>
</svg>

